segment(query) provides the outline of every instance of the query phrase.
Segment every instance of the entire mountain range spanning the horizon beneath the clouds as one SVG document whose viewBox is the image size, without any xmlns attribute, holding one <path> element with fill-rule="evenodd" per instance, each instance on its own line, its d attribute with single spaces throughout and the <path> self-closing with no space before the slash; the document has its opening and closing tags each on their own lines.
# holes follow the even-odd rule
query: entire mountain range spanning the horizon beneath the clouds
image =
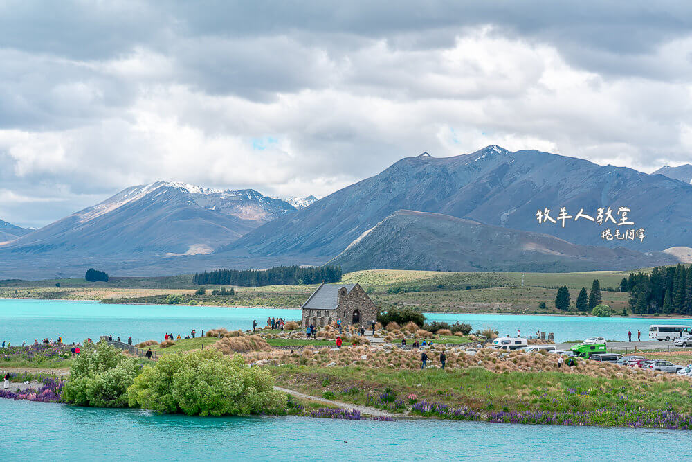
<svg viewBox="0 0 692 462">
<path fill-rule="evenodd" d="M 491 145 L 407 157 L 319 200 L 158 181 L 1 243 L 0 278 L 76 276 L 89 266 L 140 276 L 329 260 L 349 270 L 675 263 L 692 255 L 692 185 L 667 175 L 682 170 L 665 170 L 647 175 Z M 570 215 L 564 226 L 561 208 Z M 612 221 L 598 224 L 599 208 L 606 216 L 611 208 Z M 614 223 L 621 219 L 632 224 Z M 675 250 L 663 254 L 668 248 Z"/>
</svg>

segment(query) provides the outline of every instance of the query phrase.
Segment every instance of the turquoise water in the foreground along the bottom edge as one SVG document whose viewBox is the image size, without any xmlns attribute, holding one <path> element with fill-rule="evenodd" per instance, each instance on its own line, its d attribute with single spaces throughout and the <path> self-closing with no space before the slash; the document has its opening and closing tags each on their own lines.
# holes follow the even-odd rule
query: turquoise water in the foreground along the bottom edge
<svg viewBox="0 0 692 462">
<path fill-rule="evenodd" d="M 673 430 L 200 418 L 2 399 L 0 416 L 0 454 L 7 461 L 652 461 L 686 454 L 692 441 L 689 432 Z M 655 447 L 666 450 L 652 452 Z"/>
</svg>

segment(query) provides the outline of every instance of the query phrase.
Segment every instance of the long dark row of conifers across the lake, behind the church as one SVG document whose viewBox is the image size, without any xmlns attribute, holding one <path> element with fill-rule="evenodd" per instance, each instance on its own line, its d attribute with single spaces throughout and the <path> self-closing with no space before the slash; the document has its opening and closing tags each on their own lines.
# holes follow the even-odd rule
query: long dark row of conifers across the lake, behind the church
<svg viewBox="0 0 692 462">
<path fill-rule="evenodd" d="M 230 284 L 243 287 L 262 285 L 300 285 L 336 283 L 341 281 L 341 267 L 277 266 L 269 269 L 214 269 L 195 273 L 192 282 L 202 284 Z"/>
</svg>

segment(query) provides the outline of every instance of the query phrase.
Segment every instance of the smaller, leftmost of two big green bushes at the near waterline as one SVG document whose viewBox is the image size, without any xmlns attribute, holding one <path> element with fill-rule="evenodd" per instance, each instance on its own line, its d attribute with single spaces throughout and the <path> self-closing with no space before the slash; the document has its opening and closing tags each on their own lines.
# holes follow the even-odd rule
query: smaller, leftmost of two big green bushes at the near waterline
<svg viewBox="0 0 692 462">
<path fill-rule="evenodd" d="M 84 342 L 73 359 L 62 400 L 78 406 L 126 407 L 127 387 L 140 371 L 136 360 L 106 341 Z"/>
</svg>

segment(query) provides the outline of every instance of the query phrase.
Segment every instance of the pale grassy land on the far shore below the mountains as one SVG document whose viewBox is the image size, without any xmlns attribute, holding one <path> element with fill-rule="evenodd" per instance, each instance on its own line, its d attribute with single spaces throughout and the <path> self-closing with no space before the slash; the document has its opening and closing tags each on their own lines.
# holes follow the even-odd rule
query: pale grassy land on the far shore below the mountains
<svg viewBox="0 0 692 462">
<path fill-rule="evenodd" d="M 381 310 L 404 306 L 430 312 L 558 313 L 554 308 L 556 288 L 567 285 L 572 305 L 581 287 L 590 289 L 594 278 L 601 288 L 617 287 L 629 272 L 498 273 L 368 270 L 343 276 L 344 283 L 360 283 Z M 524 285 L 522 286 L 522 277 Z M 57 284 L 60 287 L 57 287 Z M 192 276 L 117 278 L 108 283 L 84 279 L 46 281 L 0 281 L 0 297 L 28 299 L 101 300 L 105 303 L 165 304 L 168 294 L 182 294 L 184 303 L 220 306 L 299 308 L 317 285 L 270 285 L 234 287 L 235 296 L 196 295 L 199 286 Z M 223 286 L 230 289 L 232 286 Z M 603 290 L 603 303 L 621 312 L 628 294 Z M 547 308 L 538 305 L 544 302 Z"/>
</svg>

